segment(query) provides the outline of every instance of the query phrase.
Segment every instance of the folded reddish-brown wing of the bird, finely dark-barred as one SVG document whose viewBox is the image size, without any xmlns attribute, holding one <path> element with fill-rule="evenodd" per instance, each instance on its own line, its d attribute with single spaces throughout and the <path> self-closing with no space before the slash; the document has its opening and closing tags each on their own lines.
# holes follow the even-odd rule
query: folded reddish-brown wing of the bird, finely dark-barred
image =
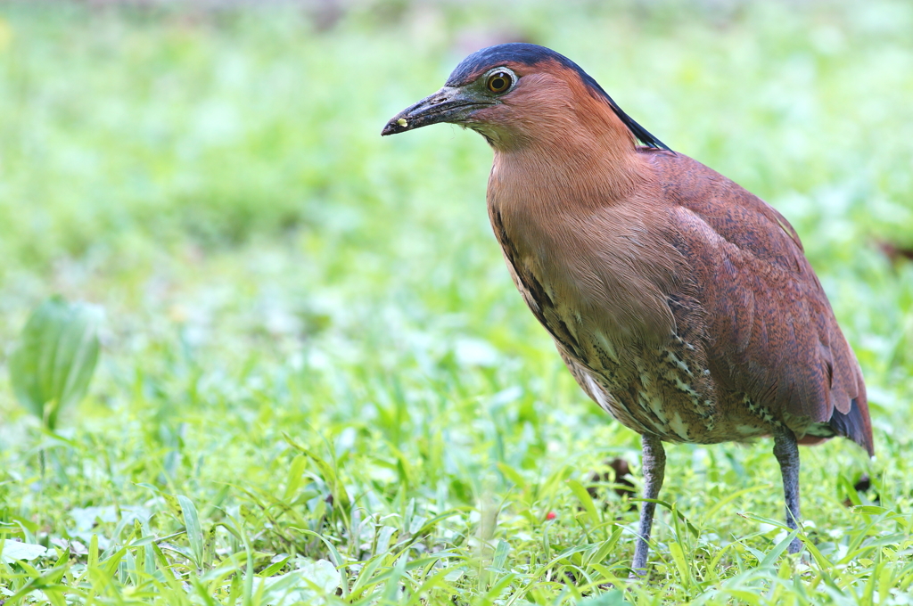
<svg viewBox="0 0 913 606">
<path fill-rule="evenodd" d="M 830 423 L 871 452 L 862 371 L 792 225 L 718 172 L 665 157 L 675 246 L 706 313 L 717 381 L 780 415 Z"/>
</svg>

